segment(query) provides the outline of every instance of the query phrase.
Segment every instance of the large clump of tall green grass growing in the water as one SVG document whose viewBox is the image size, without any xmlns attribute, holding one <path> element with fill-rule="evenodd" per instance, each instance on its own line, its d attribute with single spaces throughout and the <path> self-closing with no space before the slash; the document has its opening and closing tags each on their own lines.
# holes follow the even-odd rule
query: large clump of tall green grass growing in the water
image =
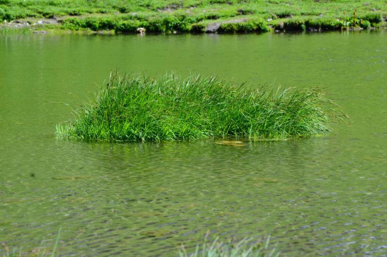
<svg viewBox="0 0 387 257">
<path fill-rule="evenodd" d="M 287 139 L 330 131 L 333 118 L 346 117 L 332 105 L 317 88 L 273 91 L 216 76 L 112 73 L 95 99 L 56 132 L 84 140 Z"/>
</svg>

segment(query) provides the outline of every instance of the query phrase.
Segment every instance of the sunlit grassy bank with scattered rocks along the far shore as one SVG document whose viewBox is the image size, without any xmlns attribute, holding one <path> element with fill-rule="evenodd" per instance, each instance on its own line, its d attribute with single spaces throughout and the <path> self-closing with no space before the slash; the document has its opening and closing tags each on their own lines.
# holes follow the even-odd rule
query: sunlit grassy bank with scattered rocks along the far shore
<svg viewBox="0 0 387 257">
<path fill-rule="evenodd" d="M 296 0 L 1 0 L 0 29 L 243 33 L 385 26 L 387 4 Z M 6 21 L 6 22 L 4 22 Z"/>
</svg>

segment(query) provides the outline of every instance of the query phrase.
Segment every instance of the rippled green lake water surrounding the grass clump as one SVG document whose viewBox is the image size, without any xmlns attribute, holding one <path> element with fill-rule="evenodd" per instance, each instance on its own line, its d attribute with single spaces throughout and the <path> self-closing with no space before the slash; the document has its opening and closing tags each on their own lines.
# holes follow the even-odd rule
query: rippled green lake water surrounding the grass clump
<svg viewBox="0 0 387 257">
<path fill-rule="evenodd" d="M 55 124 L 111 70 L 324 88 L 323 137 L 85 143 Z M 73 96 L 73 95 L 75 96 Z M 387 31 L 0 35 L 0 242 L 59 256 L 176 256 L 271 235 L 284 256 L 387 255 Z M 0 244 L 0 255 L 5 247 Z"/>
</svg>

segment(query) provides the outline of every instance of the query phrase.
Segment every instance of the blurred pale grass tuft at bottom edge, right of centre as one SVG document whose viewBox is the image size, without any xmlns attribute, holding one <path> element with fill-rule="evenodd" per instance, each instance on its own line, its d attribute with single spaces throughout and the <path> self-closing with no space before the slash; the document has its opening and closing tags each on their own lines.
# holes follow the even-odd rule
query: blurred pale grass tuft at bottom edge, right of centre
<svg viewBox="0 0 387 257">
<path fill-rule="evenodd" d="M 252 239 L 242 239 L 235 243 L 219 242 L 218 237 L 212 242 L 205 241 L 200 247 L 198 244 L 195 252 L 187 253 L 184 245 L 179 249 L 180 257 L 272 257 L 279 256 L 280 253 L 275 249 L 269 248 L 270 236 L 265 243 L 253 243 Z"/>
</svg>

